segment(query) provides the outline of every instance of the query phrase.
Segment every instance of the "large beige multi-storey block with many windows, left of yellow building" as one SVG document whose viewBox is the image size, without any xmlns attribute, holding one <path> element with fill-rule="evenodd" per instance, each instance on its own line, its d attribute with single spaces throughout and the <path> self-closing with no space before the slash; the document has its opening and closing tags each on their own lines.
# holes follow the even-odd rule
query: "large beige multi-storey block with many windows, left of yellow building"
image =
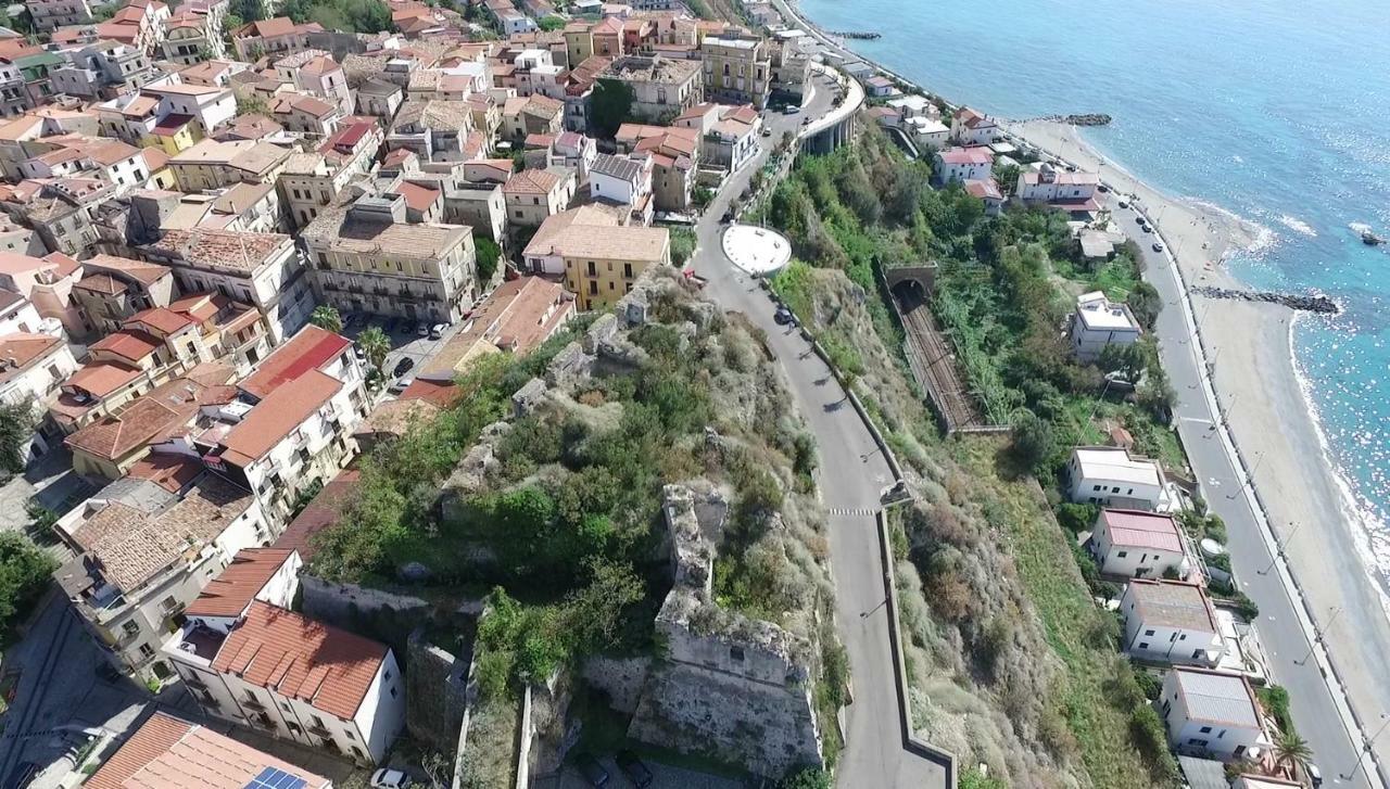
<svg viewBox="0 0 1390 789">
<path fill-rule="evenodd" d="M 325 211 L 303 233 L 320 300 L 343 313 L 453 322 L 477 299 L 473 229 L 407 224 L 404 194 Z"/>
</svg>

